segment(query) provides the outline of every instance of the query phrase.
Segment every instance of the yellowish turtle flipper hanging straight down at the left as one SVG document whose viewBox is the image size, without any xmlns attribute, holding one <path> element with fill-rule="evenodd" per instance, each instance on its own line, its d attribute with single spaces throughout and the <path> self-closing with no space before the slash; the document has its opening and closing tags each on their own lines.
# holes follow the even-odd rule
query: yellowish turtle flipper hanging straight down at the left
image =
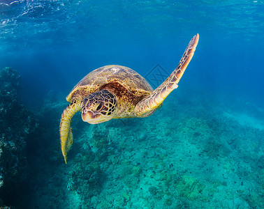
<svg viewBox="0 0 264 209">
<path fill-rule="evenodd" d="M 61 114 L 61 123 L 59 125 L 59 135 L 61 137 L 61 152 L 67 164 L 67 153 L 73 144 L 73 132 L 71 131 L 71 118 L 76 112 L 80 111 L 80 102 L 72 102 L 64 109 Z"/>
</svg>

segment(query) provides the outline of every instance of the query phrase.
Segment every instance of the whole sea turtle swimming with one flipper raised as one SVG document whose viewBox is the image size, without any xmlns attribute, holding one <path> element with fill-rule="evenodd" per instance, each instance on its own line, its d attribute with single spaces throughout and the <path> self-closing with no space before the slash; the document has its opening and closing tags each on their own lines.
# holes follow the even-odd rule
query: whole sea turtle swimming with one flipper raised
<svg viewBox="0 0 264 209">
<path fill-rule="evenodd" d="M 66 97 L 70 104 L 61 114 L 59 133 L 65 162 L 73 144 L 71 118 L 77 111 L 82 111 L 82 120 L 91 124 L 103 123 L 112 118 L 150 116 L 161 107 L 170 92 L 177 88 L 198 40 L 197 34 L 189 42 L 177 68 L 155 90 L 137 72 L 121 65 L 98 68 L 81 79 Z"/>
</svg>

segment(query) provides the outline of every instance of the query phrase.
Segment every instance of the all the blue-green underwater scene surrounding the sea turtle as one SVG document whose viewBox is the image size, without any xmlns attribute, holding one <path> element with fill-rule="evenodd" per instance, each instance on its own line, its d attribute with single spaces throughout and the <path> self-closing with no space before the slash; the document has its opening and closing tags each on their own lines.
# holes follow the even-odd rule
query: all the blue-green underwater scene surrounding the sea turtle
<svg viewBox="0 0 264 209">
<path fill-rule="evenodd" d="M 66 95 L 124 65 L 156 88 L 200 40 L 147 118 L 98 125 Z M 264 208 L 264 1 L 0 0 L 0 208 Z"/>
</svg>

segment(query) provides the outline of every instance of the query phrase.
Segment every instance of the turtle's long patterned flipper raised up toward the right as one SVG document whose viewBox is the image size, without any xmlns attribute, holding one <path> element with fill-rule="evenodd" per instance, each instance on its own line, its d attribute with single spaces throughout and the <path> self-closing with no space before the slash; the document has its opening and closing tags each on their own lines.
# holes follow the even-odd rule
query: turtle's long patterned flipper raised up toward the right
<svg viewBox="0 0 264 209">
<path fill-rule="evenodd" d="M 135 107 L 135 114 L 138 116 L 144 116 L 145 114 L 149 113 L 149 111 L 154 111 L 154 109 L 159 107 L 163 100 L 166 99 L 170 92 L 178 87 L 177 84 L 179 79 L 181 79 L 185 69 L 193 57 L 194 52 L 196 51 L 198 40 L 199 34 L 196 34 L 196 36 L 194 36 L 189 42 L 188 47 L 185 49 L 185 52 L 182 56 L 182 59 L 179 61 L 177 68 L 158 88 L 152 92 L 151 95 L 138 102 Z"/>
</svg>

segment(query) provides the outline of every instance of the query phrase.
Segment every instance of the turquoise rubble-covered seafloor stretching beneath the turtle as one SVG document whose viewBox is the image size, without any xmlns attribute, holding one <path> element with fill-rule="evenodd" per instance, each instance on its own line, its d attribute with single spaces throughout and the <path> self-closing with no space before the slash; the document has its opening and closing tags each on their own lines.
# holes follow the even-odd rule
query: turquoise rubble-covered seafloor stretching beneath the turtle
<svg viewBox="0 0 264 209">
<path fill-rule="evenodd" d="M 50 93 L 32 111 L 31 171 L 15 208 L 264 208 L 264 109 L 253 100 L 177 89 L 148 118 L 89 125 L 73 118 L 64 164 Z M 1 140 L 1 139 L 0 139 Z M 1 188 L 0 188 L 1 189 Z M 0 201 L 1 206 L 1 201 Z"/>
</svg>

